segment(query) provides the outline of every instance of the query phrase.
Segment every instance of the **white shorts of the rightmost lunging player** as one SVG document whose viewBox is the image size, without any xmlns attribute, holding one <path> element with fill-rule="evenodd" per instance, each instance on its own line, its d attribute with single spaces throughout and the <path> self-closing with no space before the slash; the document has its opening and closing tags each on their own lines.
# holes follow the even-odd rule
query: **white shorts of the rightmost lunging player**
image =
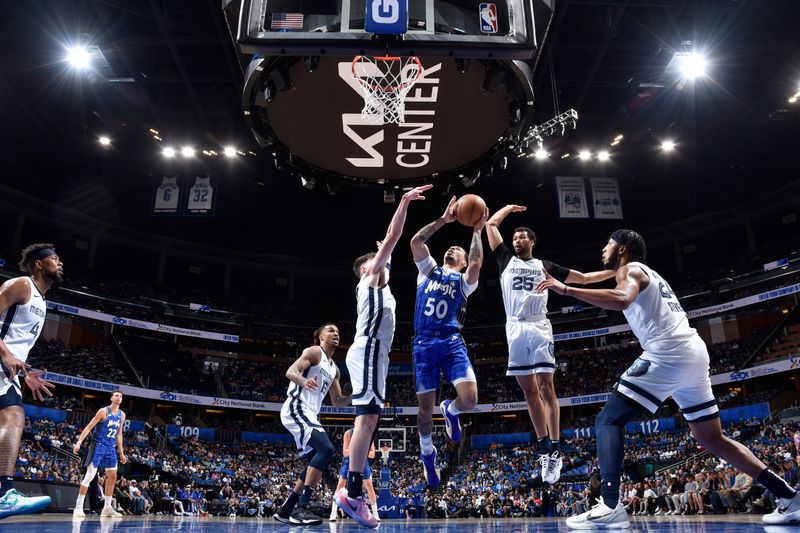
<svg viewBox="0 0 800 533">
<path fill-rule="evenodd" d="M 616 389 L 651 413 L 672 396 L 689 422 L 719 416 L 708 376 L 708 348 L 699 335 L 670 353 L 643 352 Z"/>
</svg>

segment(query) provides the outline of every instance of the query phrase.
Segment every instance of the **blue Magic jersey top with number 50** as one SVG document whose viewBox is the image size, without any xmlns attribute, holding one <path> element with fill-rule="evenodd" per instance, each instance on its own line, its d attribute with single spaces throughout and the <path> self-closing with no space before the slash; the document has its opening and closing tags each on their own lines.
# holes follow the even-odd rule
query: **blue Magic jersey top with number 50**
<svg viewBox="0 0 800 533">
<path fill-rule="evenodd" d="M 472 291 L 461 272 L 446 271 L 430 256 L 427 259 L 419 264 L 421 281 L 417 284 L 414 332 L 422 336 L 458 333 L 464 325 L 467 297 Z"/>
</svg>

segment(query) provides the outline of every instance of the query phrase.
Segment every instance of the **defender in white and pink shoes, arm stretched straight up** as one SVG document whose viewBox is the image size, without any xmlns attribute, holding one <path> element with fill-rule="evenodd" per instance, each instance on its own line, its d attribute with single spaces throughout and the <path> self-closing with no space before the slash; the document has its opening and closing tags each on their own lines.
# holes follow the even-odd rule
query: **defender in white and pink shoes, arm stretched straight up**
<svg viewBox="0 0 800 533">
<path fill-rule="evenodd" d="M 389 289 L 389 263 L 403 233 L 408 204 L 424 200 L 422 195 L 432 185 L 415 187 L 403 195 L 397 210 L 379 243 L 377 253 L 364 254 L 353 264 L 359 278 L 356 287 L 356 336 L 347 351 L 347 369 L 353 384 L 353 405 L 356 406 L 355 428 L 350 439 L 350 471 L 347 487 L 336 491 L 337 505 L 356 522 L 376 527 L 378 520 L 370 512 L 363 494 L 364 464 L 377 429 L 378 416 L 386 397 L 386 374 L 389 371 L 389 349 L 395 324 L 395 301 Z"/>
</svg>

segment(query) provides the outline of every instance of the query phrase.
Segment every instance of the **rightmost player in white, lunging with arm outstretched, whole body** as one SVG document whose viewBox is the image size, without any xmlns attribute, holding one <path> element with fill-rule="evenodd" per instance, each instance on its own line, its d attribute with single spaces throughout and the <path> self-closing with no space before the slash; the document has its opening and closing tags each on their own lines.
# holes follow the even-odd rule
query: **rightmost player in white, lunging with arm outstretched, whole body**
<svg viewBox="0 0 800 533">
<path fill-rule="evenodd" d="M 708 350 L 669 284 L 644 264 L 644 239 L 635 231 L 611 234 L 603 248 L 603 265 L 615 273 L 614 289 L 580 289 L 546 276 L 546 289 L 603 309 L 622 311 L 644 350 L 614 387 L 597 415 L 595 432 L 600 461 L 601 503 L 567 519 L 575 529 L 630 527 L 619 502 L 625 424 L 643 410 L 655 413 L 669 396 L 675 400 L 695 439 L 780 497 L 777 509 L 763 520 L 782 524 L 800 520 L 800 494 L 771 472 L 753 453 L 722 433 L 717 400 L 708 375 Z"/>
</svg>

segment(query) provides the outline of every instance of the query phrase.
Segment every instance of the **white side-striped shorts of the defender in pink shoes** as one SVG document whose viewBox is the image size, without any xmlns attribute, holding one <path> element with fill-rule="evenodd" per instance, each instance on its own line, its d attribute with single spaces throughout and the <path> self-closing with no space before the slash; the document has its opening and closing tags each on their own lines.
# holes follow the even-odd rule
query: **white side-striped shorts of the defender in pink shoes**
<svg viewBox="0 0 800 533">
<path fill-rule="evenodd" d="M 353 405 L 367 405 L 374 400 L 378 407 L 383 407 L 389 346 L 374 337 L 358 337 L 347 350 L 345 361 L 353 384 Z"/>
</svg>

